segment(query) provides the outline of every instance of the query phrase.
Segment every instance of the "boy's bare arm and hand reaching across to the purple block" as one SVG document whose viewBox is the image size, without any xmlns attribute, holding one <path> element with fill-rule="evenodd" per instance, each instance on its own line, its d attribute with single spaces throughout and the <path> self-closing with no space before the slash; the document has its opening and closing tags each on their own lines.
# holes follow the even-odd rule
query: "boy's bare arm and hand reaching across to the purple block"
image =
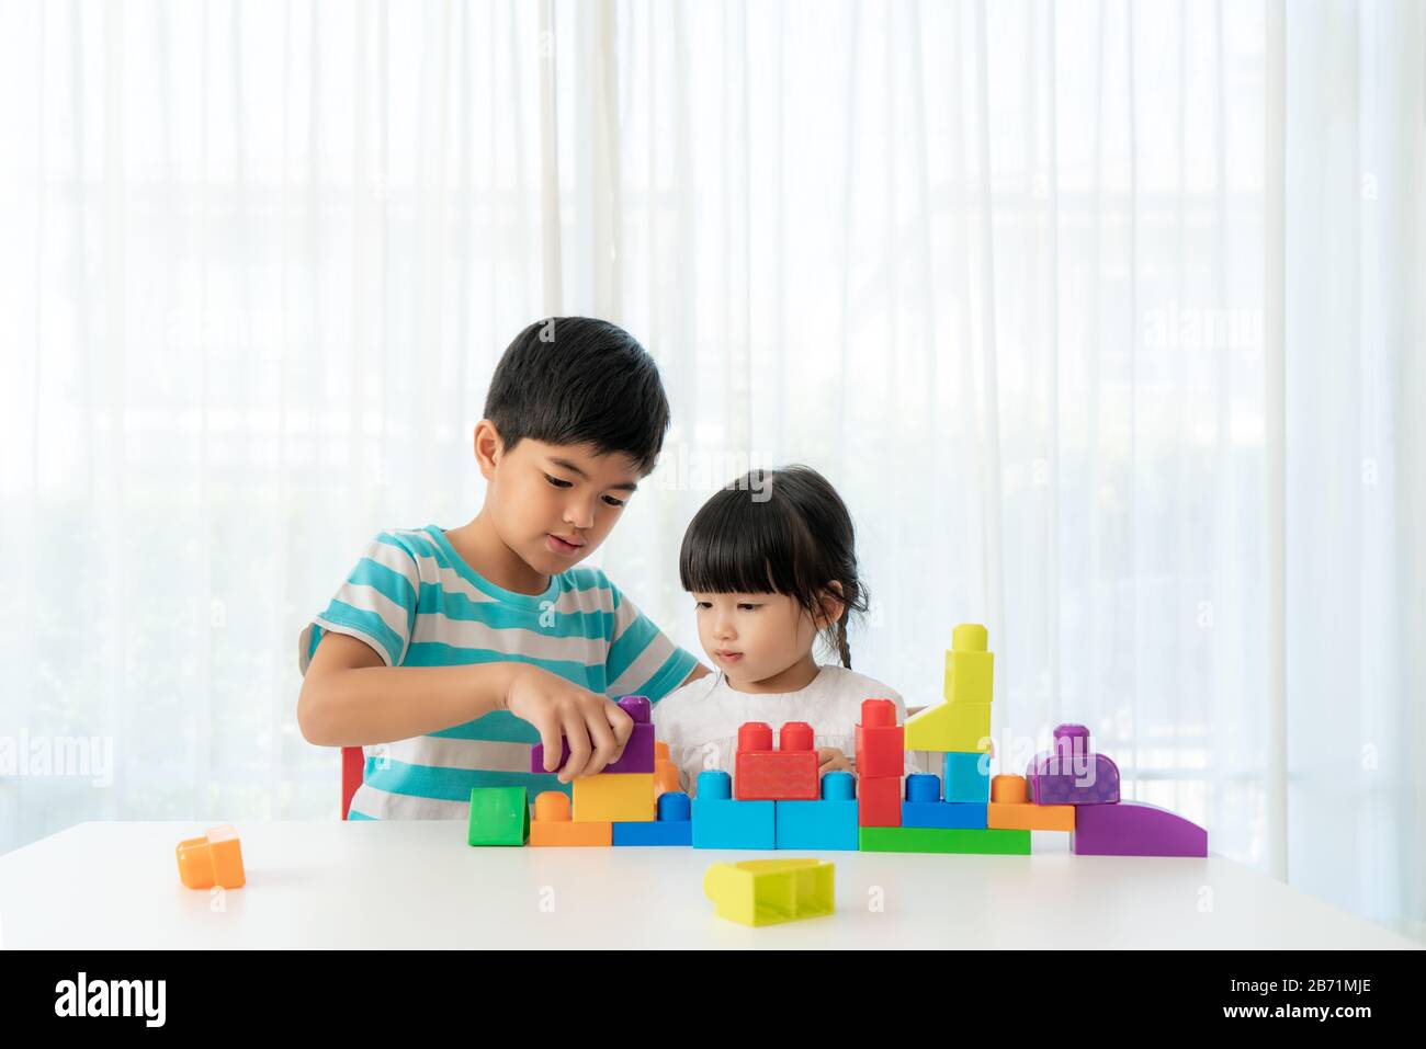
<svg viewBox="0 0 1426 1049">
<path fill-rule="evenodd" d="M 616 761 L 633 731 L 616 704 L 539 667 L 388 667 L 368 644 L 338 633 L 325 634 L 312 654 L 297 723 L 308 743 L 361 747 L 425 735 L 493 710 L 535 725 L 546 767 L 559 761 L 560 735 L 569 740 L 562 782 Z"/>
</svg>

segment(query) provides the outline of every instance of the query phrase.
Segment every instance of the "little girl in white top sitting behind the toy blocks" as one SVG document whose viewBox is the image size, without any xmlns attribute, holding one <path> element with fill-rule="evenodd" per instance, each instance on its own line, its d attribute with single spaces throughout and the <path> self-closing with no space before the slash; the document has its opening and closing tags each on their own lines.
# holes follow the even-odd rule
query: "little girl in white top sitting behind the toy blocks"
<svg viewBox="0 0 1426 1049">
<path fill-rule="evenodd" d="M 806 721 L 819 772 L 854 772 L 861 701 L 890 698 L 906 718 L 894 690 L 851 670 L 847 620 L 866 613 L 867 594 L 851 516 L 816 470 L 752 470 L 714 493 L 683 536 L 679 576 L 717 670 L 655 708 L 655 733 L 690 794 L 699 772 L 734 771 L 744 721 L 766 721 L 774 740 L 786 721 Z M 817 663 L 819 639 L 840 667 Z"/>
</svg>

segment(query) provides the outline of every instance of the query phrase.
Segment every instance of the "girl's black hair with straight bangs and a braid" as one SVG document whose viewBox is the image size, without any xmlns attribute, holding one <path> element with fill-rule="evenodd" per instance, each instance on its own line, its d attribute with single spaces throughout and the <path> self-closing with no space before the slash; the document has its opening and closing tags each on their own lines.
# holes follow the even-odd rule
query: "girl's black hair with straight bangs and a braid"
<svg viewBox="0 0 1426 1049">
<path fill-rule="evenodd" d="M 787 594 L 813 619 L 830 590 L 843 610 L 823 641 L 851 667 L 847 620 L 866 613 L 867 591 L 851 515 L 817 470 L 749 470 L 716 492 L 683 534 L 679 579 L 690 593 Z"/>
</svg>

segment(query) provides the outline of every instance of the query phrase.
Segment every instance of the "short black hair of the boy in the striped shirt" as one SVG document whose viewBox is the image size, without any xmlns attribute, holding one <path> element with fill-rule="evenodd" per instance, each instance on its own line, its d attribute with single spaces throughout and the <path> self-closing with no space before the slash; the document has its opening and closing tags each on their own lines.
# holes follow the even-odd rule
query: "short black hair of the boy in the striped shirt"
<svg viewBox="0 0 1426 1049">
<path fill-rule="evenodd" d="M 619 325 L 590 316 L 536 321 L 506 348 L 485 418 L 509 452 L 525 438 L 620 452 L 653 472 L 669 429 L 659 368 Z"/>
</svg>

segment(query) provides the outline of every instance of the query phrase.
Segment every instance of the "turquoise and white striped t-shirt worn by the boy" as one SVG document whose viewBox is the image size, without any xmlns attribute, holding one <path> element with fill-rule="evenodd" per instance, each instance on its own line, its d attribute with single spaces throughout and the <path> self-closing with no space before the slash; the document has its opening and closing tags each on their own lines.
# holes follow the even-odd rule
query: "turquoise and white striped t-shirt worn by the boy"
<svg viewBox="0 0 1426 1049">
<path fill-rule="evenodd" d="M 324 631 L 369 644 L 389 667 L 516 660 L 603 693 L 657 703 L 697 666 L 599 569 L 570 569 L 543 594 L 503 590 L 435 524 L 381 532 L 298 640 L 305 674 Z M 465 820 L 472 787 L 570 787 L 530 772 L 533 725 L 505 710 L 429 735 L 364 747 L 351 820 Z"/>
</svg>

